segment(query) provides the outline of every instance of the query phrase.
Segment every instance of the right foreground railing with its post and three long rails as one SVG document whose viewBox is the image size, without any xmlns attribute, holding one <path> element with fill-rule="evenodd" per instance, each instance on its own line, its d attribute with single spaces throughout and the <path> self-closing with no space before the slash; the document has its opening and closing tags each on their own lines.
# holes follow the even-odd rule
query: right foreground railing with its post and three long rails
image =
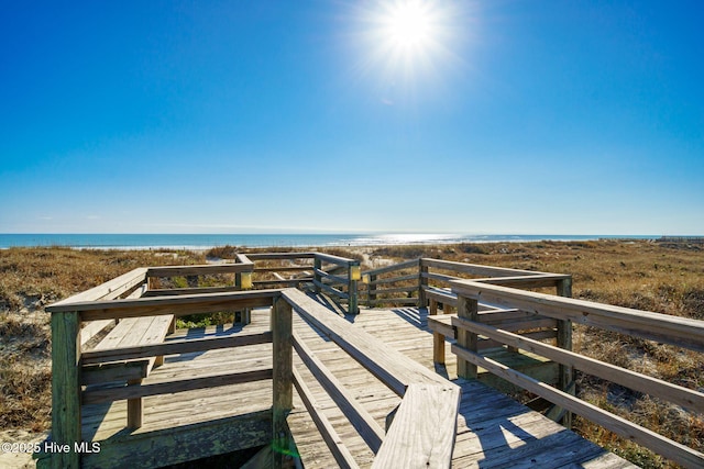
<svg viewBox="0 0 704 469">
<path fill-rule="evenodd" d="M 486 336 L 506 346 L 542 355 L 563 366 L 681 405 L 688 412 L 701 414 L 704 412 L 704 393 L 521 337 L 501 327 L 482 324 L 479 321 L 479 302 L 530 311 L 560 321 L 570 321 L 696 351 L 704 351 L 703 321 L 527 292 L 472 280 L 458 280 L 451 284 L 452 291 L 458 295 L 458 317 L 452 321 L 452 325 L 462 332 L 458 334 L 457 344 L 452 346 L 452 351 L 458 356 L 458 376 L 474 378 L 477 367 L 482 367 L 683 467 L 704 466 L 702 453 L 584 402 L 568 392 L 537 381 L 482 356 L 477 350 L 479 335 Z"/>
</svg>

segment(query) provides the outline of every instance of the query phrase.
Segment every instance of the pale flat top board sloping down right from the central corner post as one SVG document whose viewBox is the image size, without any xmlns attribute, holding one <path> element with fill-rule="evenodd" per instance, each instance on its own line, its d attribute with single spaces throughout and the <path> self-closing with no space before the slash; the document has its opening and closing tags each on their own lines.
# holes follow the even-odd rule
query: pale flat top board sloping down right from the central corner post
<svg viewBox="0 0 704 469">
<path fill-rule="evenodd" d="M 364 331 L 351 327 L 345 320 L 330 314 L 329 310 L 305 293 L 287 289 L 282 292 L 282 297 L 298 314 L 318 327 L 398 395 L 403 395 L 411 382 L 448 382 L 386 344 L 374 339 Z"/>
</svg>

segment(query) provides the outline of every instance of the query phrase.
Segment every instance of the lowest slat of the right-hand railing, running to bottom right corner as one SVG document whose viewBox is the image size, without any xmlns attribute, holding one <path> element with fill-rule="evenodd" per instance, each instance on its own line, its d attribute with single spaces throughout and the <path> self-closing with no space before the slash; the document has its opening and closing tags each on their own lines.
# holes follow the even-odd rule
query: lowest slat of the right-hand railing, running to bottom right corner
<svg viewBox="0 0 704 469">
<path fill-rule="evenodd" d="M 689 448 L 679 443 L 672 442 L 664 436 L 636 425 L 623 417 L 606 412 L 593 404 L 584 402 L 566 392 L 554 389 L 546 383 L 530 378 L 519 371 L 513 370 L 491 358 L 461 347 L 459 344 L 452 346 L 452 351 L 463 359 L 490 370 L 492 373 L 519 386 L 527 391 L 540 395 L 568 411 L 574 412 L 584 418 L 594 422 L 604 428 L 616 433 L 627 439 L 639 443 L 653 451 L 675 461 L 686 468 L 701 468 L 704 466 L 704 454 Z"/>
</svg>

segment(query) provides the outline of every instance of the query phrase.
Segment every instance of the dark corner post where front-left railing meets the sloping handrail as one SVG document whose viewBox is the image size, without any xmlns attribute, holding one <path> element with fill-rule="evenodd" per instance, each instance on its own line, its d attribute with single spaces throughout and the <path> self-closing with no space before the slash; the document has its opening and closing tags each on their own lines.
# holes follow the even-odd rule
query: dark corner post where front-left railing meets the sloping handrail
<svg viewBox="0 0 704 469">
<path fill-rule="evenodd" d="M 293 404 L 293 314 L 292 306 L 283 298 L 276 298 L 272 308 L 273 389 L 272 454 L 275 468 L 285 466 L 288 448 L 286 416 Z"/>
</svg>

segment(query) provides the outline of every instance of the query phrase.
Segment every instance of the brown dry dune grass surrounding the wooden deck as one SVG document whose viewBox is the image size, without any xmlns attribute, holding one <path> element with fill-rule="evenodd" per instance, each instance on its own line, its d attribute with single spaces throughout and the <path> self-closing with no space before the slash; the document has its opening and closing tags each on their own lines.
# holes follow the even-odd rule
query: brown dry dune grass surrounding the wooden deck
<svg viewBox="0 0 704 469">
<path fill-rule="evenodd" d="M 250 249 L 251 250 L 251 249 Z M 257 249 L 271 250 L 271 249 Z M 276 248 L 277 252 L 297 250 Z M 571 273 L 575 298 L 704 320 L 704 252 L 648 242 L 540 242 L 323 248 L 364 260 L 435 257 L 472 264 Z M 237 247 L 206 255 L 233 258 Z M 43 306 L 141 266 L 202 264 L 205 255 L 185 252 L 0 250 L 0 428 L 45 431 L 51 424 L 51 344 Z M 205 287 L 220 278 L 201 279 Z M 187 286 L 187 279 L 174 279 Z M 575 351 L 691 389 L 704 390 L 704 357 L 649 340 L 578 327 Z M 579 376 L 583 399 L 627 416 L 670 438 L 703 449 L 701 415 L 657 402 L 588 376 Z M 669 467 L 641 447 L 594 424 L 576 420 L 575 429 L 645 467 Z"/>
</svg>

